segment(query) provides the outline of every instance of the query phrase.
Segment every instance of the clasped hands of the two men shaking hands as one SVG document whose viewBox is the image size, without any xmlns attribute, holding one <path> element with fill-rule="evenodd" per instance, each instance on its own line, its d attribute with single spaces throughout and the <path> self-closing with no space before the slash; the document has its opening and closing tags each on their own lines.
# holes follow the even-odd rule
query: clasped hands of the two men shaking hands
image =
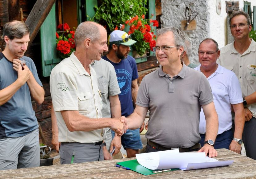
<svg viewBox="0 0 256 179">
<path fill-rule="evenodd" d="M 113 123 L 110 128 L 118 135 L 122 136 L 128 129 L 128 121 L 126 117 L 121 116 L 120 119 L 112 119 Z"/>
</svg>

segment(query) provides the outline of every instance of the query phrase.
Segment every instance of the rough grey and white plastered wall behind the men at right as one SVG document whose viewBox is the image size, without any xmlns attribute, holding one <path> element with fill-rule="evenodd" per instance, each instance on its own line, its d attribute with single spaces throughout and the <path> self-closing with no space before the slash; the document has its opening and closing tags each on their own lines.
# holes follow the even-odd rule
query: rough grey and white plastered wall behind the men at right
<svg viewBox="0 0 256 179">
<path fill-rule="evenodd" d="M 185 37 L 191 42 L 192 53 L 190 61 L 196 64 L 198 62 L 198 46 L 205 38 L 212 38 L 217 41 L 219 47 L 224 47 L 228 43 L 229 26 L 227 25 L 226 1 L 221 0 L 221 12 L 216 12 L 216 0 L 161 0 L 162 16 L 161 27 L 176 26 L 181 29 L 181 21 L 185 20 L 186 6 L 192 11 L 198 13 L 196 20 L 196 30 L 183 31 Z M 243 10 L 244 1 L 239 1 L 239 9 Z M 251 2 L 251 10 L 256 6 L 256 0 L 247 0 Z M 229 41 L 232 40 L 229 38 Z"/>
</svg>

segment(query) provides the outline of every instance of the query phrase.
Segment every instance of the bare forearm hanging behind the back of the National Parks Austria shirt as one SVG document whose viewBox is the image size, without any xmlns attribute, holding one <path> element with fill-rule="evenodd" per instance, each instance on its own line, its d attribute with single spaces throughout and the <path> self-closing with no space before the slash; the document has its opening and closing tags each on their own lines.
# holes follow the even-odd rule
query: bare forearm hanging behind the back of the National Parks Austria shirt
<svg viewBox="0 0 256 179">
<path fill-rule="evenodd" d="M 59 129 L 58 129 L 57 117 L 55 115 L 53 105 L 52 105 L 52 109 L 51 109 L 51 118 L 52 118 L 52 145 L 55 148 L 55 150 L 57 151 L 57 153 L 59 153 L 59 149 L 60 149 Z"/>
</svg>

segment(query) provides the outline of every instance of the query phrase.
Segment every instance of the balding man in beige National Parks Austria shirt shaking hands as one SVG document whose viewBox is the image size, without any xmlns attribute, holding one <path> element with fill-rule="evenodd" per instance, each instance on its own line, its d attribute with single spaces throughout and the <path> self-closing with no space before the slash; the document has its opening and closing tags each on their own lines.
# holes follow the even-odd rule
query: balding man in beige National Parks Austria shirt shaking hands
<svg viewBox="0 0 256 179">
<path fill-rule="evenodd" d="M 75 33 L 76 51 L 53 68 L 50 76 L 52 103 L 57 117 L 61 164 L 104 160 L 102 141 L 110 127 L 125 132 L 120 119 L 100 119 L 102 100 L 92 60 L 107 51 L 106 29 L 82 22 Z"/>
</svg>

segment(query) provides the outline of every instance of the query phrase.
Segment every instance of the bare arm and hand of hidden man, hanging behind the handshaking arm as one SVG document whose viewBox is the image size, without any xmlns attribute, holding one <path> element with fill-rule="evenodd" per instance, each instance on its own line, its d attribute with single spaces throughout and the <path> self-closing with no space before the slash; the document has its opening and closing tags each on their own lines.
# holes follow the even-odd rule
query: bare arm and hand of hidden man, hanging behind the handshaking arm
<svg viewBox="0 0 256 179">
<path fill-rule="evenodd" d="M 110 102 L 110 110 L 111 110 L 111 117 L 112 118 L 120 118 L 121 117 L 121 104 L 118 95 L 115 96 L 108 96 Z M 115 147 L 115 152 L 113 155 L 119 153 L 121 149 L 121 137 L 117 136 L 115 133 L 115 137 L 111 141 L 110 145 L 110 152 L 112 152 L 113 147 Z"/>
</svg>

